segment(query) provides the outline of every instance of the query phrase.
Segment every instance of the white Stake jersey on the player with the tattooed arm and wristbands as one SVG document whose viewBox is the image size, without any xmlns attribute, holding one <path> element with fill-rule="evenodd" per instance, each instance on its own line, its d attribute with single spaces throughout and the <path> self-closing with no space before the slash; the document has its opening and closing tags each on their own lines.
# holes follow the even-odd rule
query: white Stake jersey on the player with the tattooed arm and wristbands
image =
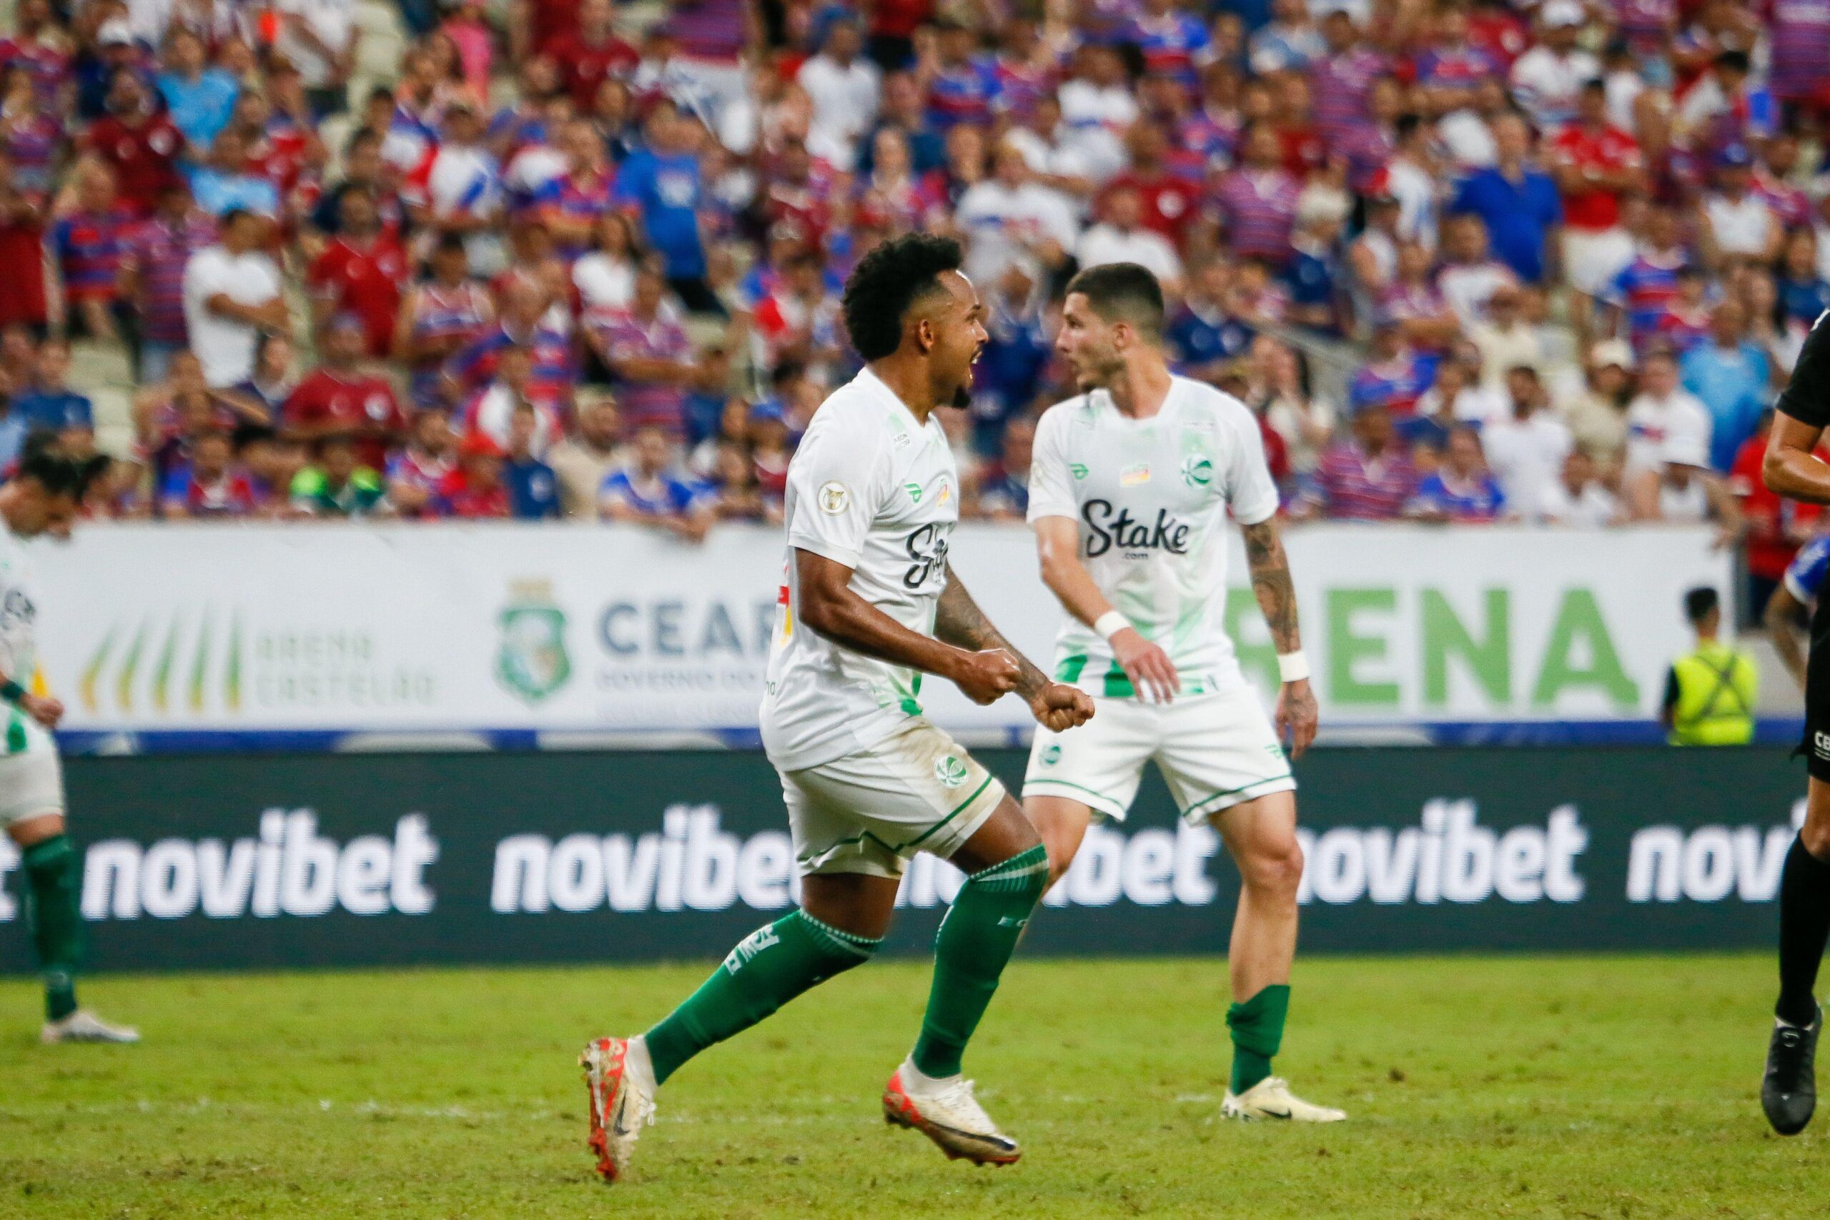
<svg viewBox="0 0 1830 1220">
<path fill-rule="evenodd" d="M 1149 419 L 1103 390 L 1060 402 L 1036 426 L 1028 519 L 1072 518 L 1100 593 L 1175 662 L 1184 695 L 1243 684 L 1226 638 L 1226 508 L 1243 525 L 1277 512 L 1257 421 L 1239 399 L 1173 377 Z M 1089 695 L 1133 697 L 1113 649 L 1072 615 L 1054 677 Z"/>
</svg>

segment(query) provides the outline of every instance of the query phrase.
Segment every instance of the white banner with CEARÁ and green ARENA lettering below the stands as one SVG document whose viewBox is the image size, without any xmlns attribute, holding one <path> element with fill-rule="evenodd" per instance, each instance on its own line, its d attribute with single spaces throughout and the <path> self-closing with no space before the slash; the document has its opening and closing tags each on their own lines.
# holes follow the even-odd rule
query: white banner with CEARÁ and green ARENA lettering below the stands
<svg viewBox="0 0 1830 1220">
<path fill-rule="evenodd" d="M 1268 691 L 1276 653 L 1235 541 L 1224 622 Z M 1323 525 L 1288 551 L 1323 724 L 1645 721 L 1687 646 L 1685 589 L 1729 591 L 1709 530 Z M 93 525 L 37 547 L 40 655 L 88 732 L 754 730 L 781 534 L 642 529 Z M 1047 664 L 1060 609 L 1021 527 L 950 558 Z M 1027 708 L 941 724 L 1027 741 Z"/>
</svg>

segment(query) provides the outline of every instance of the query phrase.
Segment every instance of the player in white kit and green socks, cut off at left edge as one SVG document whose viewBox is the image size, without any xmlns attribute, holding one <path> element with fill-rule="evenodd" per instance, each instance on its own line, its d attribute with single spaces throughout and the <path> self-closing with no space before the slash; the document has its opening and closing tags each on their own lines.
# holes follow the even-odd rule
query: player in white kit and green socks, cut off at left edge
<svg viewBox="0 0 1830 1220">
<path fill-rule="evenodd" d="M 137 1043 L 139 1033 L 77 1008 L 75 969 L 82 955 L 82 858 L 64 834 L 64 776 L 51 739 L 64 704 L 42 693 L 33 642 L 37 589 L 20 545 L 51 534 L 68 538 L 82 499 L 84 468 L 33 444 L 18 474 L 0 487 L 0 827 L 18 847 L 26 874 L 26 924 L 44 975 L 46 1043 Z"/>
</svg>

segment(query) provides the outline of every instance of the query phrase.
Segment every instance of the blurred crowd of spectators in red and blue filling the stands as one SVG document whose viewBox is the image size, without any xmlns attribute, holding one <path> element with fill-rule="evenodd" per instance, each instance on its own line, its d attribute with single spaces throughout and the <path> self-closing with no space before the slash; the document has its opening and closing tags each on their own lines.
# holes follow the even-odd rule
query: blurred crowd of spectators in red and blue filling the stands
<svg viewBox="0 0 1830 1220">
<path fill-rule="evenodd" d="M 93 448 L 77 342 L 137 386 L 99 516 L 769 519 L 847 269 L 928 229 L 988 307 L 968 516 L 1129 260 L 1292 518 L 1707 519 L 1757 580 L 1815 529 L 1755 476 L 1830 307 L 1830 0 L 401 0 L 359 88 L 357 18 L 16 0 L 0 465 Z"/>
</svg>

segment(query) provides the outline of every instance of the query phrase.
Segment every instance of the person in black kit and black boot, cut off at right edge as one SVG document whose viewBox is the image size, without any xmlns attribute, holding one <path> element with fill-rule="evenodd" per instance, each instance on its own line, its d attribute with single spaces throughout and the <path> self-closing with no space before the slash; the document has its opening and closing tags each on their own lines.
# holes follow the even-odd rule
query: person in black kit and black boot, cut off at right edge
<svg viewBox="0 0 1830 1220">
<path fill-rule="evenodd" d="M 1779 395 L 1779 413 L 1760 468 L 1766 487 L 1781 496 L 1830 505 L 1830 465 L 1814 455 L 1830 424 L 1830 309 L 1804 338 L 1792 384 Z M 1804 679 L 1804 754 L 1810 796 L 1804 827 L 1786 854 L 1779 878 L 1779 1004 L 1773 1041 L 1766 1050 L 1760 1108 L 1782 1136 L 1812 1121 L 1817 1077 L 1812 1057 L 1823 1032 L 1817 1006 L 1817 966 L 1830 935 L 1830 596 L 1812 613 L 1812 651 Z"/>
</svg>

